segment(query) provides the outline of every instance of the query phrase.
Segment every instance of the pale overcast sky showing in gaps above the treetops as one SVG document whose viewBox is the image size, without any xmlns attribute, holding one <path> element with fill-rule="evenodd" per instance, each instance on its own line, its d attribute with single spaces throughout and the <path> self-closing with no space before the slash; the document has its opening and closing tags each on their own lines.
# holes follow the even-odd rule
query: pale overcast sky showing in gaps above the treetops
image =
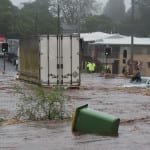
<svg viewBox="0 0 150 150">
<path fill-rule="evenodd" d="M 23 2 L 32 2 L 34 0 L 10 0 L 14 5 L 19 6 L 21 3 Z M 97 0 L 99 2 L 102 2 L 103 4 L 105 4 L 108 0 Z M 131 4 L 131 0 L 125 0 L 125 4 L 127 9 L 130 7 Z"/>
</svg>

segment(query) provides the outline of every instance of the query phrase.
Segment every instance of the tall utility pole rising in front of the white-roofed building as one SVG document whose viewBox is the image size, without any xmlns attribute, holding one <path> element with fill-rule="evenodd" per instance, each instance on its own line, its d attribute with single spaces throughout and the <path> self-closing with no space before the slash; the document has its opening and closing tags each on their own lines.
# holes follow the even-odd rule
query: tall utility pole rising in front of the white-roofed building
<svg viewBox="0 0 150 150">
<path fill-rule="evenodd" d="M 134 0 L 132 0 L 132 12 L 131 12 L 131 19 L 132 19 L 132 25 L 131 25 L 131 74 L 133 73 L 133 54 L 134 54 Z"/>
</svg>

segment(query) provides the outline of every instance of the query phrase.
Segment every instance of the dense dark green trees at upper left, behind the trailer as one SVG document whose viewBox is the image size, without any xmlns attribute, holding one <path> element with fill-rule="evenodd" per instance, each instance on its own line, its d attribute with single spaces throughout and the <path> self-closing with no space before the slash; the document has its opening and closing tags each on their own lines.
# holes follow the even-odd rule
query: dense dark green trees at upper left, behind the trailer
<svg viewBox="0 0 150 150">
<path fill-rule="evenodd" d="M 24 36 L 35 34 L 55 34 L 57 19 L 49 11 L 49 0 L 24 3 L 18 9 L 9 0 L 1 0 L 0 34 Z"/>
</svg>

